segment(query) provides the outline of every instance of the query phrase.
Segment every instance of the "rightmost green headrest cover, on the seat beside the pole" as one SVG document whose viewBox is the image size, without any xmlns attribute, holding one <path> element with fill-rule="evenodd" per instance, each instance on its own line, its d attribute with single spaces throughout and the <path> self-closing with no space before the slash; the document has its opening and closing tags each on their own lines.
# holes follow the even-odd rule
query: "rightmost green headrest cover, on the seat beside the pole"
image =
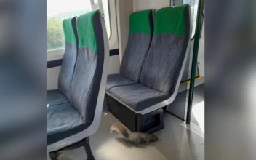
<svg viewBox="0 0 256 160">
<path fill-rule="evenodd" d="M 161 33 L 185 34 L 185 7 L 188 4 L 174 7 L 165 7 L 156 12 L 154 35 Z"/>
</svg>

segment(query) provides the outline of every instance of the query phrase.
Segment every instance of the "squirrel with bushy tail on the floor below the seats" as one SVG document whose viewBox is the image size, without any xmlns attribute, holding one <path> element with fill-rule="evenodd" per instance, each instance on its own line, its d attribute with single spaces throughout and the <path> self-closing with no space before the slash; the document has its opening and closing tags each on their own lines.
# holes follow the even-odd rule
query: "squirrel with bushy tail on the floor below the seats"
<svg viewBox="0 0 256 160">
<path fill-rule="evenodd" d="M 135 143 L 135 146 L 139 146 L 140 142 L 145 142 L 147 145 L 150 141 L 157 141 L 158 137 L 153 134 L 140 133 L 140 132 L 127 132 L 127 129 L 122 124 L 113 124 L 111 126 L 111 133 L 119 132 L 125 139 L 129 140 L 132 143 Z M 141 146 L 141 145 L 140 145 Z"/>
</svg>

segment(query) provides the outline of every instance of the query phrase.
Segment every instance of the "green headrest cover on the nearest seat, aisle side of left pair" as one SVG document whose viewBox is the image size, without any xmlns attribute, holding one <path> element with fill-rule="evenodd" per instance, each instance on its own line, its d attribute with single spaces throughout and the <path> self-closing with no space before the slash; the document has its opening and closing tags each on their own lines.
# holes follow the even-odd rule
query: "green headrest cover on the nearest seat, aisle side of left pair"
<svg viewBox="0 0 256 160">
<path fill-rule="evenodd" d="M 98 11 L 92 11 L 77 17 L 77 34 L 79 37 L 79 48 L 89 47 L 94 52 L 97 52 L 97 41 L 93 17 Z"/>
</svg>

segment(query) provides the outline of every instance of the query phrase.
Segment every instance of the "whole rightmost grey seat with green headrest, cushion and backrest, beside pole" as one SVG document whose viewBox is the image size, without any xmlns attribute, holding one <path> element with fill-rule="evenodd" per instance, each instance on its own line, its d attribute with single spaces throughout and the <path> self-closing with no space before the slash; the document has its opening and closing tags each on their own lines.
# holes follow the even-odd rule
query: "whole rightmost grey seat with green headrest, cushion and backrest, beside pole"
<svg viewBox="0 0 256 160">
<path fill-rule="evenodd" d="M 108 95 L 134 111 L 147 109 L 140 113 L 148 113 L 172 103 L 188 57 L 190 26 L 188 5 L 159 9 L 151 48 L 140 73 L 140 83 L 113 87 Z M 148 109 L 153 105 L 153 109 Z"/>
</svg>

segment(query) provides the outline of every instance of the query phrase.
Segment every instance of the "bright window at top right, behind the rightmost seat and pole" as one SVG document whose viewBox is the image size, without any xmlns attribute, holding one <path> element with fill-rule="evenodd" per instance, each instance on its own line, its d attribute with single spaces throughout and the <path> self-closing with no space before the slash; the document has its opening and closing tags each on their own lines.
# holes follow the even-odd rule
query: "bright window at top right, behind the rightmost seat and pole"
<svg viewBox="0 0 256 160">
<path fill-rule="evenodd" d="M 196 31 L 196 15 L 199 0 L 173 0 L 172 6 L 177 6 L 181 4 L 189 4 L 191 6 L 191 23 L 192 23 L 192 37 L 195 35 Z"/>
</svg>

